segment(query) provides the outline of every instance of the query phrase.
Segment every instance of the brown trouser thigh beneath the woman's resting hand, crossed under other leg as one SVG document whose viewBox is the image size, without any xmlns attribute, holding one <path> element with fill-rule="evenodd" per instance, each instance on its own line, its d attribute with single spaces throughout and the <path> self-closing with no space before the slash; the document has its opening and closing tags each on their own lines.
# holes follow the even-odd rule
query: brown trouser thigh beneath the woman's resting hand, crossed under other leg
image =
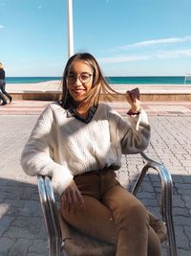
<svg viewBox="0 0 191 256">
<path fill-rule="evenodd" d="M 86 195 L 82 197 L 85 210 L 78 204 L 74 214 L 67 212 L 61 203 L 64 220 L 91 237 L 109 244 L 117 244 L 117 228 L 111 211 L 96 198 Z"/>
</svg>

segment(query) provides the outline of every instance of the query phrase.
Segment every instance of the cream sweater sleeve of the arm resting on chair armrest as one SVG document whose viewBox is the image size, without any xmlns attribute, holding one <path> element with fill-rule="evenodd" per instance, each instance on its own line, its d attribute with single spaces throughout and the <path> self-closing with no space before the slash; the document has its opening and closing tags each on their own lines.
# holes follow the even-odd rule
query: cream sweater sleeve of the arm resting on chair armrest
<svg viewBox="0 0 191 256">
<path fill-rule="evenodd" d="M 67 165 L 53 160 L 53 106 L 49 105 L 37 120 L 21 154 L 21 166 L 28 175 L 50 175 L 53 188 L 60 195 L 73 179 Z"/>
</svg>

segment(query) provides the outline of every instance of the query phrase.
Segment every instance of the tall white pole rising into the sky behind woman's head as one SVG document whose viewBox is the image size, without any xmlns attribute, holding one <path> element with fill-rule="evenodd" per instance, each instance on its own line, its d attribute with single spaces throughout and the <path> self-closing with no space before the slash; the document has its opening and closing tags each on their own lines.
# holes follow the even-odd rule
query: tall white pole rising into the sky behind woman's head
<svg viewBox="0 0 191 256">
<path fill-rule="evenodd" d="M 73 0 L 68 2 L 68 57 L 74 55 Z"/>
</svg>

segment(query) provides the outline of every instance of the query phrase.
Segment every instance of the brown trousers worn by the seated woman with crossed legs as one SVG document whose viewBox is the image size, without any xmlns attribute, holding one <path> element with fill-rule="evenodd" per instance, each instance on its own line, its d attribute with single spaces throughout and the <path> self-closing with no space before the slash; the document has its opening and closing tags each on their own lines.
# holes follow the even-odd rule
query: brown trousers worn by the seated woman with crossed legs
<svg viewBox="0 0 191 256">
<path fill-rule="evenodd" d="M 118 182 L 111 170 L 74 176 L 85 210 L 71 214 L 61 205 L 63 218 L 99 240 L 116 244 L 117 256 L 160 256 L 160 242 L 149 225 L 144 205 Z"/>
</svg>

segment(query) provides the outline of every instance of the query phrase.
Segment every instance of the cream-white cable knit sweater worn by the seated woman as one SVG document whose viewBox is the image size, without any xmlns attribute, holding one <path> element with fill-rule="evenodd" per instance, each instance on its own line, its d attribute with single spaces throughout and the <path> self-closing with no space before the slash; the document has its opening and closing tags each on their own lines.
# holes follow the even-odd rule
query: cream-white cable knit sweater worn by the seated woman
<svg viewBox="0 0 191 256">
<path fill-rule="evenodd" d="M 138 125 L 138 127 L 137 127 Z M 122 117 L 100 104 L 89 124 L 68 117 L 58 104 L 46 107 L 38 118 L 21 156 L 28 175 L 51 175 L 61 193 L 74 175 L 103 167 L 118 170 L 121 153 L 137 153 L 149 144 L 150 126 L 142 109 L 138 117 Z"/>
</svg>

